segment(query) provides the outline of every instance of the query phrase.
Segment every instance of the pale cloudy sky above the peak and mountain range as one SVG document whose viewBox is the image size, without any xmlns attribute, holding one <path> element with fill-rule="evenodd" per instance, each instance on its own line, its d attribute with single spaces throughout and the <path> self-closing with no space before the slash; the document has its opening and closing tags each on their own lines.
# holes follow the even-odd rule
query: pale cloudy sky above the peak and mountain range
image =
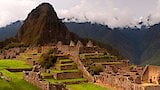
<svg viewBox="0 0 160 90">
<path fill-rule="evenodd" d="M 51 3 L 60 18 L 74 17 L 79 22 L 110 27 L 134 26 L 138 21 L 160 22 L 160 0 L 1 0 L 0 26 L 24 20 L 42 2 Z"/>
</svg>

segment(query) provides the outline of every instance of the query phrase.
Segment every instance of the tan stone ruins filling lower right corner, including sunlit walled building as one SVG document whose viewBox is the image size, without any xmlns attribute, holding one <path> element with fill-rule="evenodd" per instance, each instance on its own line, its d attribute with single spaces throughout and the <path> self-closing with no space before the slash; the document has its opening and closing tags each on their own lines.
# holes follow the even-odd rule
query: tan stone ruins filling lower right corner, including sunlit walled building
<svg viewBox="0 0 160 90">
<path fill-rule="evenodd" d="M 160 66 L 129 68 L 107 65 L 104 72 L 95 76 L 97 83 L 116 90 L 160 90 Z"/>
</svg>

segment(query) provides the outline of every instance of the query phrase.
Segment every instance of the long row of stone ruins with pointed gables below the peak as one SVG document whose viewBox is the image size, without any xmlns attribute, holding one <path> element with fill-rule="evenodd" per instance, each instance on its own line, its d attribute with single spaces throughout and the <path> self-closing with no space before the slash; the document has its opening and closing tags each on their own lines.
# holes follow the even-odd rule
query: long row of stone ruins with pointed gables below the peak
<svg viewBox="0 0 160 90">
<path fill-rule="evenodd" d="M 30 52 L 30 53 L 45 53 L 49 49 L 57 48 L 60 51 L 67 53 L 93 53 L 93 52 L 103 52 L 105 49 L 95 47 L 93 42 L 88 41 L 86 46 L 84 46 L 81 41 L 78 41 L 77 44 L 75 42 L 70 41 L 69 45 L 63 45 L 61 41 L 59 41 L 54 46 L 42 46 L 42 47 L 20 47 L 20 48 L 10 48 L 8 50 L 4 50 L 0 52 L 0 59 L 14 59 L 17 58 L 20 53 Z"/>
</svg>

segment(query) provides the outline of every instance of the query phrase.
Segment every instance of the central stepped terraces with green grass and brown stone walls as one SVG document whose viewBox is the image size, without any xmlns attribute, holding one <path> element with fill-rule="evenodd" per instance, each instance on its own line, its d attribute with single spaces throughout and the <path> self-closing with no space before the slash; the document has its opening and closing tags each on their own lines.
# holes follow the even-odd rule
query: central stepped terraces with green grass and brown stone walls
<svg viewBox="0 0 160 90">
<path fill-rule="evenodd" d="M 83 78 L 82 72 L 70 59 L 58 59 L 49 72 L 42 73 L 42 76 L 43 79 L 51 83 L 78 84 L 87 82 L 87 79 Z"/>
</svg>

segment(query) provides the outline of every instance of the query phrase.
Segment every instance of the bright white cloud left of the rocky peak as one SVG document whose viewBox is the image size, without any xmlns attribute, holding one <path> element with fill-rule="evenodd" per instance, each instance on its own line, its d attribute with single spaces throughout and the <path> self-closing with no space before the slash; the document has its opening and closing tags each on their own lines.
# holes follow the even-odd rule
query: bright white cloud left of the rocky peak
<svg viewBox="0 0 160 90">
<path fill-rule="evenodd" d="M 0 1 L 0 26 L 16 20 L 23 20 L 33 9 L 35 3 L 32 0 Z"/>
</svg>

